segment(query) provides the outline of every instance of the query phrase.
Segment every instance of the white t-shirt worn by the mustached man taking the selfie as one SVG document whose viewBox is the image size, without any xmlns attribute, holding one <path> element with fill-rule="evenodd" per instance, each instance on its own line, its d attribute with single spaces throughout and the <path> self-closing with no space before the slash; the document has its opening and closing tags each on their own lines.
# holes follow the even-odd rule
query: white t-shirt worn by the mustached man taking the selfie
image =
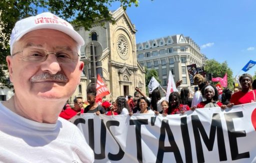
<svg viewBox="0 0 256 163">
<path fill-rule="evenodd" d="M 25 119 L 0 103 L 0 162 L 92 163 L 93 151 L 79 129 L 58 118 L 56 124 Z"/>
</svg>

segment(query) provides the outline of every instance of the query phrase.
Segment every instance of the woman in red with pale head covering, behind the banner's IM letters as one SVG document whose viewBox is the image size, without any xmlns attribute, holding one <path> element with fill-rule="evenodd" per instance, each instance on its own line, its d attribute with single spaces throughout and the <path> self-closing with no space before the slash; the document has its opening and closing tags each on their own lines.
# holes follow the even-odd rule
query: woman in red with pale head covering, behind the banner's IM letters
<svg viewBox="0 0 256 163">
<path fill-rule="evenodd" d="M 196 108 L 211 108 L 211 107 L 220 107 L 222 105 L 218 100 L 218 91 L 213 85 L 205 85 L 201 90 L 202 97 L 206 101 L 200 102 Z"/>
</svg>

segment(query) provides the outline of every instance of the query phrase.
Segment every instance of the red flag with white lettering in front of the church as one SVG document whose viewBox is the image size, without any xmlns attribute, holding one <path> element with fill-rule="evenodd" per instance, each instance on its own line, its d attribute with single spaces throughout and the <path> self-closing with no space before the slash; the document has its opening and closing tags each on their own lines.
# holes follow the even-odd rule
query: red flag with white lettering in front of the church
<svg viewBox="0 0 256 163">
<path fill-rule="evenodd" d="M 97 104 L 101 104 L 102 98 L 110 94 L 99 74 L 97 74 L 96 92 L 95 101 Z"/>
</svg>

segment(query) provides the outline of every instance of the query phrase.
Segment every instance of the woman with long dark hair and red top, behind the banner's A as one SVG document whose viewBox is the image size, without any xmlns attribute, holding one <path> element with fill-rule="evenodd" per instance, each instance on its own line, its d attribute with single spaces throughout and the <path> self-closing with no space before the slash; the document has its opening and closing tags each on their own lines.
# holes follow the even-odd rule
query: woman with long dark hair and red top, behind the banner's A
<svg viewBox="0 0 256 163">
<path fill-rule="evenodd" d="M 190 110 L 188 105 L 182 105 L 180 102 L 180 96 L 178 92 L 172 92 L 169 95 L 169 107 L 167 114 L 184 114 Z"/>
</svg>

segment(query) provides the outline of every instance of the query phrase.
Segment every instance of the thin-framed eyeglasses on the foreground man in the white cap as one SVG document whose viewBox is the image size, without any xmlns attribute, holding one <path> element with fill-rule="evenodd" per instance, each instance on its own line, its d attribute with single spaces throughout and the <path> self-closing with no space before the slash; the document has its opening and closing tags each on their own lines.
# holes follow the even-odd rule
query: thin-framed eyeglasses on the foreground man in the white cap
<svg viewBox="0 0 256 163">
<path fill-rule="evenodd" d="M 78 60 L 78 53 L 74 51 L 62 50 L 58 52 L 48 52 L 44 49 L 38 48 L 24 48 L 21 51 L 15 52 L 12 56 L 21 53 L 22 60 L 28 62 L 43 62 L 47 59 L 49 54 L 54 54 L 59 63 L 69 63 Z"/>
</svg>

